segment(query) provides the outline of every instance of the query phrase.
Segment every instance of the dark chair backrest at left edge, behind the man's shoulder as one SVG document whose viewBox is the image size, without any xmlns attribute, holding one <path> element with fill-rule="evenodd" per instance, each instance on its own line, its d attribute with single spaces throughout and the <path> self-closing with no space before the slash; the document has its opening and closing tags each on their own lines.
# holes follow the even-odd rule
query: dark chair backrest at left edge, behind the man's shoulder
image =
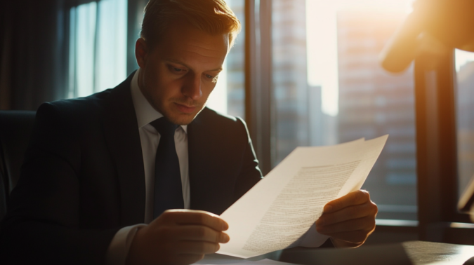
<svg viewBox="0 0 474 265">
<path fill-rule="evenodd" d="M 0 111 L 0 220 L 18 182 L 36 111 Z"/>
</svg>

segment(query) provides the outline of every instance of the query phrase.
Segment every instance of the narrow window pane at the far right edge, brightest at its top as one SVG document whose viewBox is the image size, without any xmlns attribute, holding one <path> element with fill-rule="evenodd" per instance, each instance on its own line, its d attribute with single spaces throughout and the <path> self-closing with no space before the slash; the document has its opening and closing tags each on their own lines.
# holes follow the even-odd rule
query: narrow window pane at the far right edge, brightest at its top
<svg viewBox="0 0 474 265">
<path fill-rule="evenodd" d="M 474 175 L 474 53 L 456 50 L 459 195 Z"/>
</svg>

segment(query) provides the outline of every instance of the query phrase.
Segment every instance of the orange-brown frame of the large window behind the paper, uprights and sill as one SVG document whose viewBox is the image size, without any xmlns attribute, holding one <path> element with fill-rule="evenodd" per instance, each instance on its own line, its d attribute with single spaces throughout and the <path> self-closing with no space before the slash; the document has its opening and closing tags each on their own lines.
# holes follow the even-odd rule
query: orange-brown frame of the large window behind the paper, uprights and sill
<svg viewBox="0 0 474 265">
<path fill-rule="evenodd" d="M 264 175 L 275 156 L 271 11 L 271 0 L 245 1 L 245 118 Z M 414 66 L 418 225 L 378 226 L 417 231 L 420 240 L 472 244 L 474 225 L 457 210 L 454 50 L 437 60 L 430 69 L 432 60 L 419 56 Z"/>
</svg>

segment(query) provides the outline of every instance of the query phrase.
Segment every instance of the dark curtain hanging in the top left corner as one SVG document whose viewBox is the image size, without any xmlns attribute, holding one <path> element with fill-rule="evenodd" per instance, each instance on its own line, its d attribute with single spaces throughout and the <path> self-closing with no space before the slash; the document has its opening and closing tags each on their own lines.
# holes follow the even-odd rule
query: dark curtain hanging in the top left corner
<svg viewBox="0 0 474 265">
<path fill-rule="evenodd" d="M 0 109 L 36 110 L 65 98 L 70 8 L 91 1 L 1 2 Z"/>
</svg>

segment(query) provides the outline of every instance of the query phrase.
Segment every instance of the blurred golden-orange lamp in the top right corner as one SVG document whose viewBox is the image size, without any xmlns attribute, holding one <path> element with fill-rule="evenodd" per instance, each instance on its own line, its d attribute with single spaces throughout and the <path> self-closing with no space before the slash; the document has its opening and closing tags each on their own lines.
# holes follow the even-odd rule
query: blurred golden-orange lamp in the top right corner
<svg viewBox="0 0 474 265">
<path fill-rule="evenodd" d="M 413 12 L 381 51 L 389 72 L 402 72 L 421 53 L 474 52 L 473 0 L 416 0 Z"/>
</svg>

